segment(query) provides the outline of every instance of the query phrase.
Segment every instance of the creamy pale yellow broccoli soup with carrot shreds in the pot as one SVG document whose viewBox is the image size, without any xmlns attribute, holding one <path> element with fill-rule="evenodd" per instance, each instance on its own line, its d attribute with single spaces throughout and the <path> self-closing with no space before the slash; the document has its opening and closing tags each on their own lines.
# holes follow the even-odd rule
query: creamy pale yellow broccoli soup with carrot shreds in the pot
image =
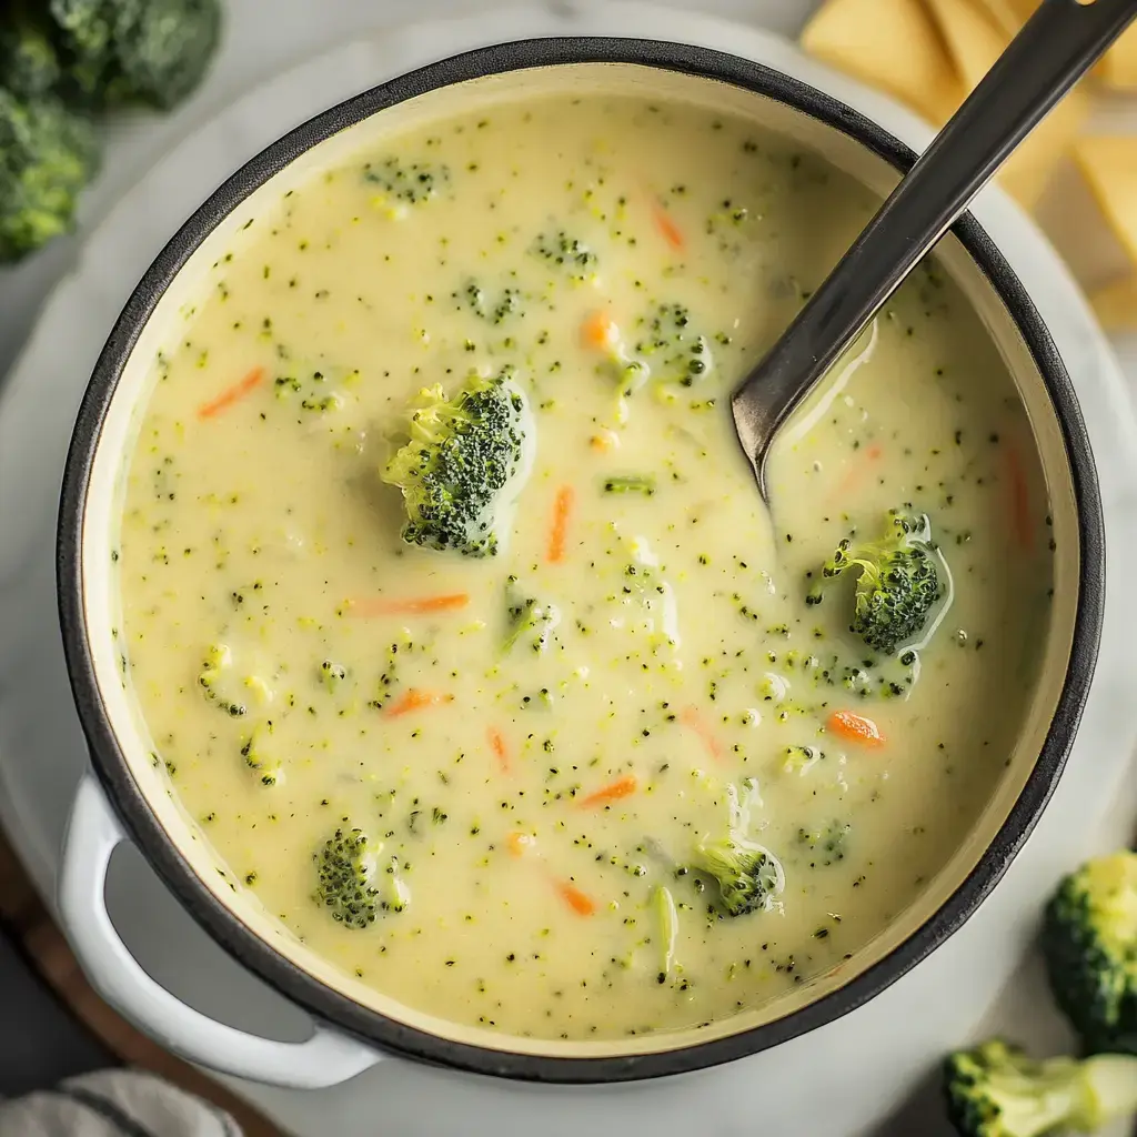
<svg viewBox="0 0 1137 1137">
<path fill-rule="evenodd" d="M 249 221 L 153 363 L 115 554 L 153 762 L 234 888 L 383 996 L 538 1039 L 771 1004 L 912 904 L 1004 771 L 1052 542 L 935 263 L 763 506 L 727 396 L 873 207 L 740 119 L 559 96 Z"/>
</svg>

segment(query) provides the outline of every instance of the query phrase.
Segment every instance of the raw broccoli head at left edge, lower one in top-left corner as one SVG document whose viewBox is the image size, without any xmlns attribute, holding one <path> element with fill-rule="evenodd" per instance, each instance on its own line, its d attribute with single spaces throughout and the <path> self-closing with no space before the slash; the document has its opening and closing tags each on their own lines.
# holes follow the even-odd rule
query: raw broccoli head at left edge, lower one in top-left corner
<svg viewBox="0 0 1137 1137">
<path fill-rule="evenodd" d="M 86 118 L 53 98 L 22 100 L 0 89 L 0 263 L 70 229 L 98 165 Z"/>
</svg>

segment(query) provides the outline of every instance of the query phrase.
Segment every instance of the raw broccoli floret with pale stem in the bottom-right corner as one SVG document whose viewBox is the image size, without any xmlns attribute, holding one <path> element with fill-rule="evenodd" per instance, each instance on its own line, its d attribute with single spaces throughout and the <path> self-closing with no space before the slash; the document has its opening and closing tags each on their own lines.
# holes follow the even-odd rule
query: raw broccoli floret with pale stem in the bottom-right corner
<svg viewBox="0 0 1137 1137">
<path fill-rule="evenodd" d="M 994 1039 L 949 1055 L 944 1089 L 961 1137 L 1089 1132 L 1137 1110 L 1137 1059 L 1105 1054 L 1036 1062 Z"/>
</svg>

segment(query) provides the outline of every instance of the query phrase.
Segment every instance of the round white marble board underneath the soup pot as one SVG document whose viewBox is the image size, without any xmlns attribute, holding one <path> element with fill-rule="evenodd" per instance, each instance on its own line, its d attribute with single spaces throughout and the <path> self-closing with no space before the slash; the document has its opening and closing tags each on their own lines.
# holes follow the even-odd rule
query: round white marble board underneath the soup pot
<svg viewBox="0 0 1137 1137">
<path fill-rule="evenodd" d="M 235 100 L 169 153 L 90 238 L 0 398 L 0 819 L 44 896 L 53 895 L 64 822 L 85 764 L 56 626 L 56 495 L 78 398 L 122 302 L 216 183 L 290 126 L 431 59 L 496 40 L 565 33 L 649 34 L 733 51 L 825 88 L 916 148 L 929 138 L 907 111 L 769 33 L 609 2 L 561 14 L 530 6 L 358 39 Z M 1127 637 L 1127 628 L 1137 626 L 1137 596 L 1117 584 L 1137 555 L 1137 425 L 1109 346 L 1049 246 L 997 192 L 986 193 L 976 213 L 1031 288 L 1073 376 L 1102 479 L 1112 582 L 1101 664 L 1067 774 L 993 897 L 931 958 L 868 1006 L 729 1068 L 647 1085 L 550 1088 L 388 1061 L 332 1090 L 225 1079 L 231 1088 L 299 1135 L 855 1137 L 878 1130 L 924 1085 L 941 1053 L 978 1029 L 1029 952 L 1041 898 L 1064 869 L 1096 847 L 1095 827 L 1098 841 L 1105 832 L 1098 822 L 1112 815 L 1117 824 L 1118 803 L 1129 802 L 1119 794 L 1137 741 L 1130 695 L 1137 690 L 1137 657 Z M 110 911 L 151 974 L 234 1026 L 304 1037 L 304 1016 L 215 947 L 140 857 L 118 861 Z M 1018 1021 L 1030 1027 L 1029 1016 Z M 930 1137 L 936 1112 L 919 1121 L 911 1117 L 895 1131 L 918 1127 Z"/>
</svg>

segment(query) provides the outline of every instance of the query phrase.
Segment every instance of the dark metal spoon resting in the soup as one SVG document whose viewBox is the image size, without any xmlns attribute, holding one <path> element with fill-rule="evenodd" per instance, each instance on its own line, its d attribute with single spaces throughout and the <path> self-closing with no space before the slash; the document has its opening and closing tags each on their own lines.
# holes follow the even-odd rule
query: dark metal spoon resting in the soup
<svg viewBox="0 0 1137 1137">
<path fill-rule="evenodd" d="M 771 443 L 1015 147 L 1137 17 L 1137 0 L 1043 0 L 765 358 L 731 396 L 769 500 Z"/>
</svg>

